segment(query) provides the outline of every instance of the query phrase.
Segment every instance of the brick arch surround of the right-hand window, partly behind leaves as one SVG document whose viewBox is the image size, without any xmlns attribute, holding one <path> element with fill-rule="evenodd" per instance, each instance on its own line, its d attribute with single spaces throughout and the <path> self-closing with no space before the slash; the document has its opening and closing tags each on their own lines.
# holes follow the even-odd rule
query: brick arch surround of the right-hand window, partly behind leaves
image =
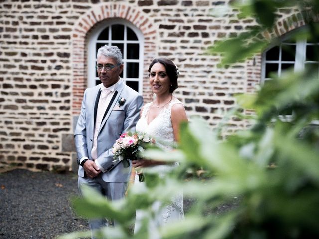
<svg viewBox="0 0 319 239">
<path fill-rule="evenodd" d="M 319 14 L 316 16 L 315 19 L 312 20 L 315 22 L 319 22 Z M 264 37 L 267 39 L 281 37 L 288 32 L 291 32 L 305 25 L 307 25 L 307 21 L 304 19 L 303 15 L 300 12 L 296 12 L 288 17 L 278 19 L 273 28 L 271 28 L 269 31 L 264 32 Z M 260 84 L 261 64 L 262 53 L 247 61 L 246 92 L 255 92 L 255 85 Z"/>
</svg>

